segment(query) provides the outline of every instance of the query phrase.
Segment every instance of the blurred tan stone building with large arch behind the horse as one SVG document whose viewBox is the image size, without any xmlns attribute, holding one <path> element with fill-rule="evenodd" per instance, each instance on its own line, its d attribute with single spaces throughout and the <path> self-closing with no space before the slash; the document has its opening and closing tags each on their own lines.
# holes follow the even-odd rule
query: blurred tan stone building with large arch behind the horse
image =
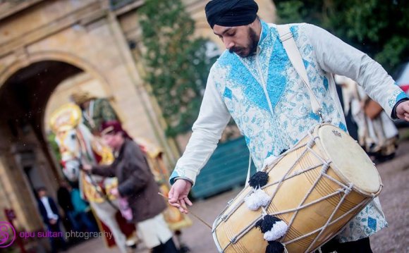
<svg viewBox="0 0 409 253">
<path fill-rule="evenodd" d="M 142 0 L 0 1 L 0 221 L 13 209 L 19 230 L 42 229 L 34 195 L 55 196 L 61 171 L 47 143 L 49 113 L 75 90 L 109 97 L 125 128 L 160 145 L 172 164 L 180 155 L 142 80 L 138 8 Z M 223 44 L 209 29 L 207 1 L 184 0 L 197 35 Z M 271 0 L 260 16 L 273 21 Z"/>
</svg>

